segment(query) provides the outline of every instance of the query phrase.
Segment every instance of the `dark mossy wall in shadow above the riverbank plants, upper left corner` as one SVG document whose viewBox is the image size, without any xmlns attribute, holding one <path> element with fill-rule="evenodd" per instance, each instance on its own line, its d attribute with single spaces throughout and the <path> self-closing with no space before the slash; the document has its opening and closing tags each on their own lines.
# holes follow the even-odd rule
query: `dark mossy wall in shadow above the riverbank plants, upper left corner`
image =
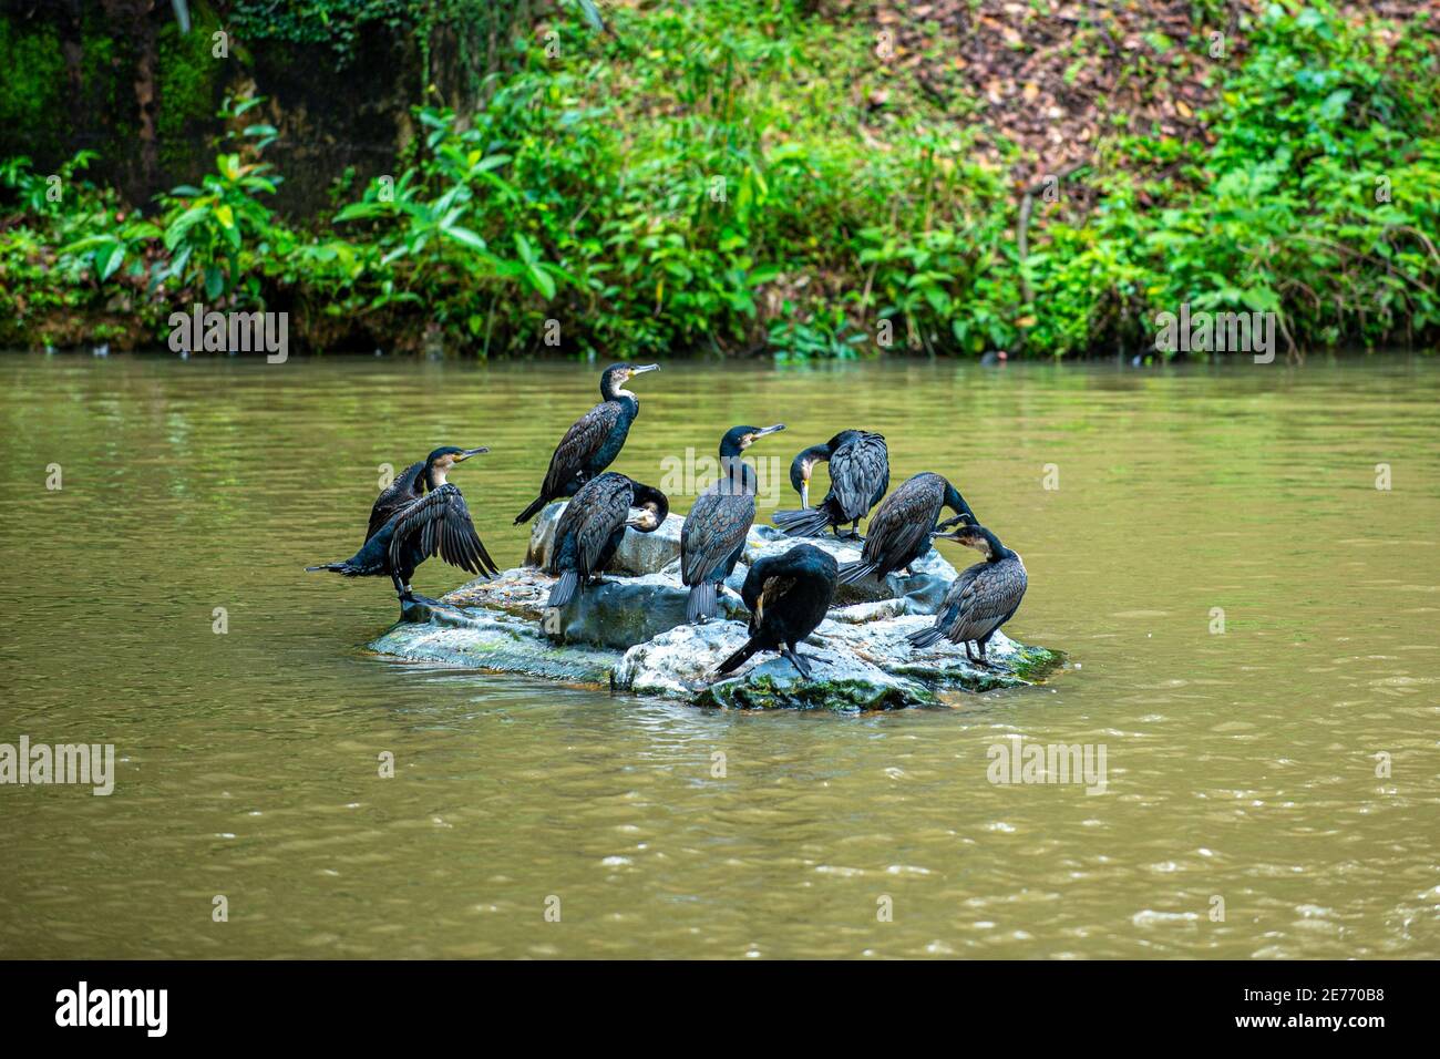
<svg viewBox="0 0 1440 1059">
<path fill-rule="evenodd" d="M 95 179 L 144 202 L 209 171 L 220 101 L 255 91 L 279 130 L 276 205 L 292 216 L 324 209 L 347 170 L 356 182 L 393 170 L 413 105 L 472 104 L 531 3 L 189 0 L 189 10 L 181 33 L 164 1 L 0 0 L 0 157 L 48 170 L 89 148 Z"/>
</svg>

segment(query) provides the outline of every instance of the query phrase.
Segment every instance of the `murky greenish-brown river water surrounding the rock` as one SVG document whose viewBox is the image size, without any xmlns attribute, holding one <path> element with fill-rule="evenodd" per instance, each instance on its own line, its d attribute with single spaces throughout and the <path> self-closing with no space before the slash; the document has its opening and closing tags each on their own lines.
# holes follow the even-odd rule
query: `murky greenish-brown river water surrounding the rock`
<svg viewBox="0 0 1440 1059">
<path fill-rule="evenodd" d="M 1045 689 L 749 716 L 366 653 L 389 586 L 301 568 L 377 465 L 490 445 L 455 480 L 513 565 L 595 388 L 0 357 L 0 742 L 120 758 L 111 797 L 0 787 L 0 957 L 1440 955 L 1440 365 L 636 380 L 616 470 L 649 481 L 776 421 L 756 452 L 867 426 L 894 481 L 950 475 L 1030 568 L 1009 631 L 1070 653 Z M 1103 743 L 1106 792 L 991 784 L 1011 733 Z"/>
</svg>

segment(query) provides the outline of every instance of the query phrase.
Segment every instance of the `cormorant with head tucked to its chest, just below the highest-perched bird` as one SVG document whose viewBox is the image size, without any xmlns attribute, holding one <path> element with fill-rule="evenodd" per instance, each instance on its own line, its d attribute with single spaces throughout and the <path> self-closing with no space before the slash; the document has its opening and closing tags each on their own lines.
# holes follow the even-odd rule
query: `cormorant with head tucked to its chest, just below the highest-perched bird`
<svg viewBox="0 0 1440 1059">
<path fill-rule="evenodd" d="M 550 589 L 546 608 L 564 607 L 586 579 L 599 576 L 621 546 L 626 526 L 652 533 L 668 514 L 670 500 L 664 493 L 615 471 L 580 486 L 554 527 L 554 550 L 546 572 L 559 573 L 560 581 Z"/>
</svg>

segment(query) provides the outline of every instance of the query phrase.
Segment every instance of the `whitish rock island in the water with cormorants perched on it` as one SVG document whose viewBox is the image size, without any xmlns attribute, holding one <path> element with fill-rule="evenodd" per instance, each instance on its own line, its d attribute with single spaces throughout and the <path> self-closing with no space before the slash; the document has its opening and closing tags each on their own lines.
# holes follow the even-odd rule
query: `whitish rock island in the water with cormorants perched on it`
<svg viewBox="0 0 1440 1059">
<path fill-rule="evenodd" d="M 549 558 L 562 509 L 556 503 L 541 513 L 528 562 Z M 671 516 L 655 535 L 626 535 L 626 540 L 644 540 L 664 533 L 662 542 L 672 540 L 672 549 L 662 545 L 647 550 L 638 545 L 625 558 L 634 566 L 660 563 L 657 569 L 634 576 L 606 573 L 600 584 L 582 588 L 559 614 L 547 615 L 544 608 L 554 578 L 527 566 L 472 581 L 446 595 L 442 605 L 410 605 L 406 620 L 370 647 L 402 658 L 611 686 L 701 706 L 840 712 L 930 706 L 955 692 L 1022 686 L 1041 680 L 1060 663 L 1057 653 L 1018 644 L 1004 634 L 996 634 L 988 648 L 989 660 L 1004 669 L 979 669 L 966 660 L 963 645 L 948 641 L 913 650 L 906 637 L 933 621 L 930 611 L 955 576 L 955 569 L 932 550 L 917 560 L 913 575 L 858 586 L 858 598 L 831 611 L 801 648 L 812 680 L 804 680 L 789 661 L 773 654 L 760 654 L 736 674 L 717 679 L 714 667 L 746 638 L 747 615 L 739 588 L 747 566 L 742 562 L 726 581 L 733 591 L 720 594 L 720 618 L 685 625 L 688 589 L 680 584 L 680 522 Z M 744 559 L 753 562 L 795 543 L 760 526 L 750 533 Z M 845 542 L 811 543 L 841 562 L 858 558 L 858 549 Z"/>
</svg>

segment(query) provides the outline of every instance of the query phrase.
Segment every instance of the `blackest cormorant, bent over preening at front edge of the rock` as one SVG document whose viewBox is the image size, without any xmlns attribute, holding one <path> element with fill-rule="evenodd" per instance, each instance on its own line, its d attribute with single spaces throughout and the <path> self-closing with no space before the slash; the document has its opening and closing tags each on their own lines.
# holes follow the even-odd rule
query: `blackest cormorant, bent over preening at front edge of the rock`
<svg viewBox="0 0 1440 1059">
<path fill-rule="evenodd" d="M 750 638 L 716 671 L 730 673 L 756 651 L 779 651 L 809 680 L 809 663 L 795 648 L 825 620 L 835 595 L 835 560 L 815 545 L 796 545 L 785 555 L 759 559 L 740 589 L 750 608 Z"/>
</svg>

